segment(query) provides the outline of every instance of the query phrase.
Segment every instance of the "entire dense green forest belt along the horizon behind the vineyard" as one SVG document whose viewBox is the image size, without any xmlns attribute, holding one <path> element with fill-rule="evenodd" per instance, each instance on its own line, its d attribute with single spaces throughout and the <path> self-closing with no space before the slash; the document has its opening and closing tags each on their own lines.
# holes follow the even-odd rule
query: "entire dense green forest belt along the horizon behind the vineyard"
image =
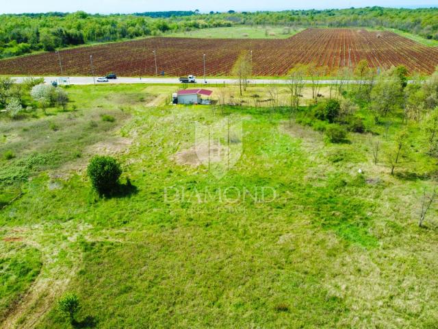
<svg viewBox="0 0 438 329">
<path fill-rule="evenodd" d="M 137 14 L 0 15 L 0 58 L 60 47 L 158 36 L 206 27 L 289 25 L 297 27 L 387 27 L 438 40 L 438 8 L 291 10 L 283 12 L 144 12 Z"/>
</svg>

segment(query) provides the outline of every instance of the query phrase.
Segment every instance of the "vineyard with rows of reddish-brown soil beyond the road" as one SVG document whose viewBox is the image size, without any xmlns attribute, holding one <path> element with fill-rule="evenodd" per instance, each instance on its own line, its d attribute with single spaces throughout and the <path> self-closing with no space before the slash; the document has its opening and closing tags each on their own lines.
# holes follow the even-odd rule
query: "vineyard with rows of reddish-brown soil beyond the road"
<svg viewBox="0 0 438 329">
<path fill-rule="evenodd" d="M 326 67 L 326 75 L 359 60 L 388 69 L 404 65 L 410 73 L 432 73 L 438 65 L 438 48 L 427 47 L 393 32 L 365 29 L 306 29 L 283 40 L 146 38 L 0 60 L 0 75 L 94 75 L 110 72 L 120 76 L 203 75 L 203 54 L 208 76 L 231 75 L 237 58 L 253 51 L 253 75 L 284 76 L 296 64 Z"/>
</svg>

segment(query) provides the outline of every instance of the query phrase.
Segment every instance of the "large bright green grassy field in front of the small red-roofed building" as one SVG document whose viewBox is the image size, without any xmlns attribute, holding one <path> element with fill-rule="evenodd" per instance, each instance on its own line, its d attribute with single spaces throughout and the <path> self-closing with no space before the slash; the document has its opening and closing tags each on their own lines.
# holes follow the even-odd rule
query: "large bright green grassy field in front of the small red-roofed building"
<svg viewBox="0 0 438 329">
<path fill-rule="evenodd" d="M 66 292 L 76 328 L 436 326 L 437 209 L 417 226 L 436 160 L 415 123 L 391 176 L 365 134 L 332 144 L 284 108 L 164 105 L 174 89 L 71 86 L 67 112 L 0 118 L 15 156 L 0 159 L 2 328 L 71 328 Z M 385 151 L 401 117 L 360 114 Z M 192 147 L 196 122 L 223 119 L 242 123 L 241 154 L 219 177 Z M 135 187 L 97 197 L 94 154 Z"/>
</svg>

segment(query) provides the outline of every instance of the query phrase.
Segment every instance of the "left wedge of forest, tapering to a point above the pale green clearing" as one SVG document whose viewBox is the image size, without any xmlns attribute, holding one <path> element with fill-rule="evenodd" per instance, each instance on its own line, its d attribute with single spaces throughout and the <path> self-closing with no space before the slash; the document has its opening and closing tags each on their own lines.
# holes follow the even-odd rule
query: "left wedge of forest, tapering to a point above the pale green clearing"
<svg viewBox="0 0 438 329">
<path fill-rule="evenodd" d="M 0 58 L 90 42 L 109 42 L 206 27 L 231 26 L 221 18 L 184 16 L 151 18 L 149 14 L 3 14 L 0 15 Z M 175 14 L 179 16 L 175 16 Z M 183 16 L 181 16 L 183 15 Z"/>
</svg>

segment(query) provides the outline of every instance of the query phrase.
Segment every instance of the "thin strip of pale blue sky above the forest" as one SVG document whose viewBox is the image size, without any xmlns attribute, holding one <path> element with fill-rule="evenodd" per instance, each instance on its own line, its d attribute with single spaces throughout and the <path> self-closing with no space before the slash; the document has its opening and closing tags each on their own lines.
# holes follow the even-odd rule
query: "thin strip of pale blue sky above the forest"
<svg viewBox="0 0 438 329">
<path fill-rule="evenodd" d="M 0 0 L 0 13 L 21 12 L 153 12 L 166 10 L 195 10 L 201 12 L 227 10 L 286 10 L 350 8 L 381 5 L 383 7 L 437 7 L 438 0 Z"/>
</svg>

